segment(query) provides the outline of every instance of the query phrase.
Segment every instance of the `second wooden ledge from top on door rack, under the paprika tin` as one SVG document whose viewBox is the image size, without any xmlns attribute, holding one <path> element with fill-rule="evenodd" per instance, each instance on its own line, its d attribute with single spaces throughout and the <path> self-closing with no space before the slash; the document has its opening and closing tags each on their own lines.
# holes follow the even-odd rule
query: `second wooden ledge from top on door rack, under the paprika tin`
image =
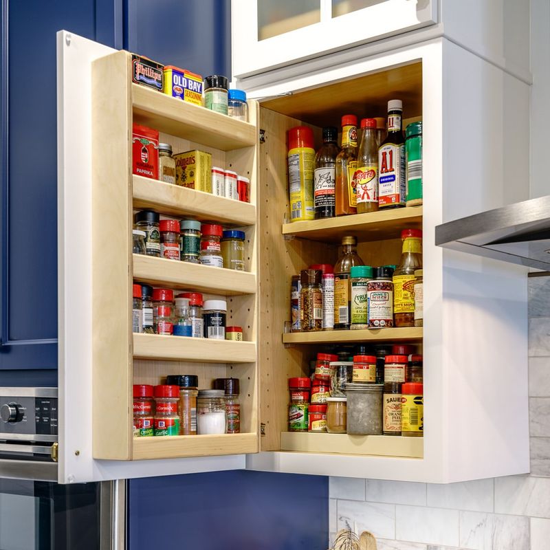
<svg viewBox="0 0 550 550">
<path fill-rule="evenodd" d="M 248 202 L 225 199 L 137 175 L 132 176 L 132 189 L 134 208 L 150 208 L 159 214 L 217 221 L 224 225 L 256 223 L 256 206 Z"/>
</svg>

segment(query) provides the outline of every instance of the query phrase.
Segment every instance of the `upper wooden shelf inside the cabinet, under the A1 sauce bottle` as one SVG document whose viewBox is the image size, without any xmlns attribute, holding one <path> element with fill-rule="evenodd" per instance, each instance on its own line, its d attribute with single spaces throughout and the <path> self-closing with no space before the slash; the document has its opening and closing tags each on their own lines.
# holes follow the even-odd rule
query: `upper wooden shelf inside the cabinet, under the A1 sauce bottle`
<svg viewBox="0 0 550 550">
<path fill-rule="evenodd" d="M 355 235 L 359 241 L 382 241 L 399 239 L 404 229 L 421 228 L 422 207 L 409 206 L 338 218 L 284 223 L 283 235 L 340 244 L 344 235 Z"/>
</svg>

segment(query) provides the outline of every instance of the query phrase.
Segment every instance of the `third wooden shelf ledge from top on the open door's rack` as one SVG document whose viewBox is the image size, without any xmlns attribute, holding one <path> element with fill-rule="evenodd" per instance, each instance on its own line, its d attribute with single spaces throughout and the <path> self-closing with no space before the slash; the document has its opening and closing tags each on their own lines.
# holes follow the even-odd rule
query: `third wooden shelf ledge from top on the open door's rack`
<svg viewBox="0 0 550 550">
<path fill-rule="evenodd" d="M 140 283 L 157 287 L 193 289 L 225 296 L 256 294 L 254 273 L 178 262 L 154 256 L 133 254 L 133 276 Z"/>
</svg>

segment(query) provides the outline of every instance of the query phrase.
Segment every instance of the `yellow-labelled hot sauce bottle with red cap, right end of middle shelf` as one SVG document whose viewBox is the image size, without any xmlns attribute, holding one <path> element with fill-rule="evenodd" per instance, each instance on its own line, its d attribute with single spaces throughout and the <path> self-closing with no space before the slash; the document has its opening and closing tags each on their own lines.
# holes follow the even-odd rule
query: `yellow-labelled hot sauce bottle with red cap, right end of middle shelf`
<svg viewBox="0 0 550 550">
<path fill-rule="evenodd" d="M 393 273 L 393 318 L 395 327 L 415 326 L 415 271 L 422 268 L 422 231 L 401 231 L 403 252 Z"/>
</svg>

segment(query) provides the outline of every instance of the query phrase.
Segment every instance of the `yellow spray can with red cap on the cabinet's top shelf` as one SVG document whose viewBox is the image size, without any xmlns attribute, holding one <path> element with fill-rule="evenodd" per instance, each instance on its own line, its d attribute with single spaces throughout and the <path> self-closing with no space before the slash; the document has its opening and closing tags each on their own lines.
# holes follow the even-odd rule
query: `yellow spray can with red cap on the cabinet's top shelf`
<svg viewBox="0 0 550 550">
<path fill-rule="evenodd" d="M 315 218 L 314 133 L 308 126 L 288 131 L 288 183 L 290 221 Z"/>
</svg>

